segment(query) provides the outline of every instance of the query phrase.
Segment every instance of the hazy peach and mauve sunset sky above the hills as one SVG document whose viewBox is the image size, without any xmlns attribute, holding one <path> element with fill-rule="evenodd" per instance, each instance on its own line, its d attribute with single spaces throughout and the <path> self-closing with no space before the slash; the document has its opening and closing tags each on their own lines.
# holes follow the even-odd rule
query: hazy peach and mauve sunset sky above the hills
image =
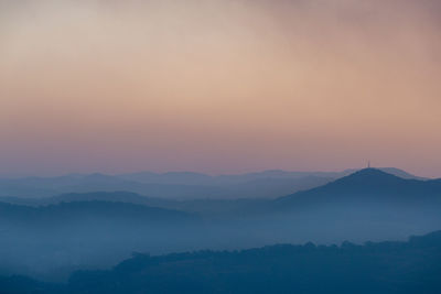
<svg viewBox="0 0 441 294">
<path fill-rule="evenodd" d="M 441 177 L 437 0 L 0 0 L 0 175 Z"/>
</svg>

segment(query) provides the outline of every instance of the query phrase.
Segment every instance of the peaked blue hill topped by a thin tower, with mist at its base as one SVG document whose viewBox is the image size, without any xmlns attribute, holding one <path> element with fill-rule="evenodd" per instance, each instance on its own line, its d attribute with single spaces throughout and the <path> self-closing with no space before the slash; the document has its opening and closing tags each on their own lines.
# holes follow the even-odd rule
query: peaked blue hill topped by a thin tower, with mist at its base
<svg viewBox="0 0 441 294">
<path fill-rule="evenodd" d="M 438 230 L 440 211 L 441 181 L 405 179 L 366 168 L 276 199 L 259 207 L 256 215 L 268 215 L 268 224 L 284 221 L 290 231 L 310 240 L 337 236 L 381 240 Z M 283 227 L 273 226 L 278 228 Z"/>
</svg>

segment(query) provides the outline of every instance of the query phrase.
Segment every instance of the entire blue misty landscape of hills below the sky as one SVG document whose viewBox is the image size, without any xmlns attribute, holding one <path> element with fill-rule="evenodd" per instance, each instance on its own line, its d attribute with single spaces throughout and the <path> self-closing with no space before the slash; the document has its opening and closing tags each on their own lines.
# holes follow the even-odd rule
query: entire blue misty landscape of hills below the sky
<svg viewBox="0 0 441 294">
<path fill-rule="evenodd" d="M 441 291 L 441 179 L 397 168 L 68 175 L 0 188 L 4 293 Z"/>
</svg>

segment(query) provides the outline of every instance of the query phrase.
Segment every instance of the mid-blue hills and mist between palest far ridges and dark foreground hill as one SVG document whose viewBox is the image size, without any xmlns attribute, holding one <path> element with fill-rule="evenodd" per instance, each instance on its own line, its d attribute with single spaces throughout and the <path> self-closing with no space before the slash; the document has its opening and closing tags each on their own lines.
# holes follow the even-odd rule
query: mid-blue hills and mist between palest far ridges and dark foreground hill
<svg viewBox="0 0 441 294">
<path fill-rule="evenodd" d="M 441 229 L 440 179 L 374 168 L 278 199 L 164 200 L 118 192 L 8 199 L 0 205 L 0 273 L 44 279 L 110 266 L 132 251 L 361 243 Z"/>
</svg>

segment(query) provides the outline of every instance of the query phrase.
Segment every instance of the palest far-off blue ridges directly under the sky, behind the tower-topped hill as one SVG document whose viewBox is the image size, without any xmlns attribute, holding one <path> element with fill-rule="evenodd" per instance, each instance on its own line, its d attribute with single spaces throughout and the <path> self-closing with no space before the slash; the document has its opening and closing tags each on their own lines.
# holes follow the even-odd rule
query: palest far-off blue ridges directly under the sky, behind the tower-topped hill
<svg viewBox="0 0 441 294">
<path fill-rule="evenodd" d="M 406 178 L 418 178 L 398 168 L 383 168 Z M 104 175 L 74 174 L 57 177 L 0 178 L 0 197 L 41 198 L 66 193 L 128 190 L 171 199 L 277 198 L 318 187 L 353 173 L 266 171 L 209 176 L 198 173 L 150 172 Z"/>
</svg>

